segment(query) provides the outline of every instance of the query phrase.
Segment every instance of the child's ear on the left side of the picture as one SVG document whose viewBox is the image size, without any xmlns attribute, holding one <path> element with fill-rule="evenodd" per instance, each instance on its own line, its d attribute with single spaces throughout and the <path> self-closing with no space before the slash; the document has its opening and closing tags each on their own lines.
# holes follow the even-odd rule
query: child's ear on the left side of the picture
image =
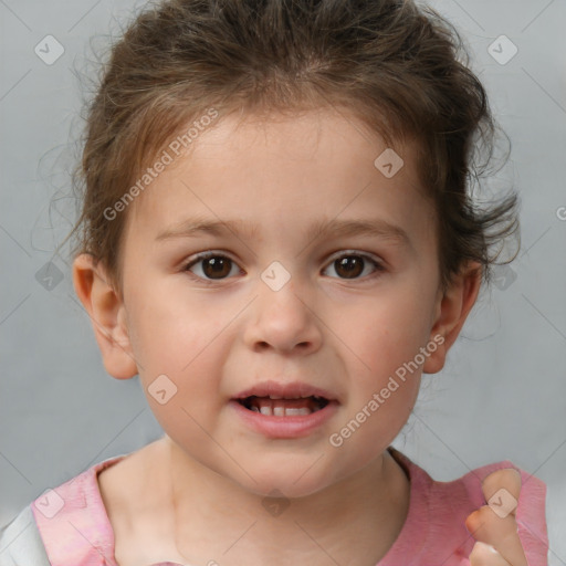
<svg viewBox="0 0 566 566">
<path fill-rule="evenodd" d="M 83 253 L 73 262 L 73 285 L 93 323 L 106 371 L 116 379 L 137 374 L 124 302 L 108 283 L 102 262 Z"/>
</svg>

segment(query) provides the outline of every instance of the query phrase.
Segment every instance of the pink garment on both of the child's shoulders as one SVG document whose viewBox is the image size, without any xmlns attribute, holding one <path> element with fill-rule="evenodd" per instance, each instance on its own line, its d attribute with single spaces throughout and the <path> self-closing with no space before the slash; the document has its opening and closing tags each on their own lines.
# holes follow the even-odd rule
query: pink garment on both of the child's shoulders
<svg viewBox="0 0 566 566">
<path fill-rule="evenodd" d="M 503 468 L 521 472 L 523 485 L 516 520 L 528 565 L 547 565 L 546 485 L 539 479 L 503 461 L 478 468 L 451 482 L 437 482 L 401 452 L 394 448 L 389 451 L 410 479 L 410 504 L 402 531 L 376 566 L 469 566 L 474 539 L 464 526 L 465 517 L 485 504 L 481 491 L 483 478 Z M 114 557 L 114 532 L 96 476 L 126 455 L 93 465 L 32 503 L 52 566 L 118 566 Z M 163 562 L 151 566 L 182 565 Z"/>
</svg>

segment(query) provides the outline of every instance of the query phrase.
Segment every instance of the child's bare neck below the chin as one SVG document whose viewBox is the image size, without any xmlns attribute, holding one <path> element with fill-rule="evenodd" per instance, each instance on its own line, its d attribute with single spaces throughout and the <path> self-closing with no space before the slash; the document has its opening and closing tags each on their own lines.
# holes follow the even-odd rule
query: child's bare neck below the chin
<svg viewBox="0 0 566 566">
<path fill-rule="evenodd" d="M 338 483 L 277 501 L 250 493 L 166 440 L 175 543 L 185 560 L 375 566 L 407 516 L 409 481 L 388 451 Z"/>
</svg>

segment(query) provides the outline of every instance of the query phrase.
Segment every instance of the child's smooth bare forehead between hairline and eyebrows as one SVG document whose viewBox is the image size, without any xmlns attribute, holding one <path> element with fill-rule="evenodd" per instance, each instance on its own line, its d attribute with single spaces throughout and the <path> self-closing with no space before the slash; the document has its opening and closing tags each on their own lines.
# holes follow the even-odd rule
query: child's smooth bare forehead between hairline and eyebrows
<svg viewBox="0 0 566 566">
<path fill-rule="evenodd" d="M 255 233 L 304 224 L 312 235 L 313 220 L 370 212 L 417 231 L 413 217 L 428 203 L 415 155 L 410 144 L 388 148 L 342 112 L 227 116 L 200 132 L 185 154 L 171 156 L 128 211 L 128 231 L 157 239 L 198 216 L 217 223 L 249 220 Z"/>
</svg>

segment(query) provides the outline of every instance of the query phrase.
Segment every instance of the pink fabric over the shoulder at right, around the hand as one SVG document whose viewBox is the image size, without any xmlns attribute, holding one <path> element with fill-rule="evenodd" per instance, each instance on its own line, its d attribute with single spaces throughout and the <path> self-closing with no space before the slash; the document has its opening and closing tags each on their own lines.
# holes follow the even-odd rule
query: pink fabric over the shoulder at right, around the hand
<svg viewBox="0 0 566 566">
<path fill-rule="evenodd" d="M 417 562 L 410 564 L 433 564 L 434 555 L 438 558 L 439 553 L 449 554 L 446 566 L 467 564 L 474 541 L 465 528 L 465 518 L 486 504 L 482 481 L 490 473 L 505 468 L 521 473 L 522 490 L 516 518 L 528 563 L 531 566 L 547 564 L 546 485 L 538 478 L 505 460 L 475 468 L 455 480 L 440 482 L 401 452 L 394 449 L 391 454 L 411 482 L 409 514 L 398 539 L 405 544 L 406 553 L 417 557 Z M 384 563 L 384 566 L 388 565 Z"/>
</svg>

